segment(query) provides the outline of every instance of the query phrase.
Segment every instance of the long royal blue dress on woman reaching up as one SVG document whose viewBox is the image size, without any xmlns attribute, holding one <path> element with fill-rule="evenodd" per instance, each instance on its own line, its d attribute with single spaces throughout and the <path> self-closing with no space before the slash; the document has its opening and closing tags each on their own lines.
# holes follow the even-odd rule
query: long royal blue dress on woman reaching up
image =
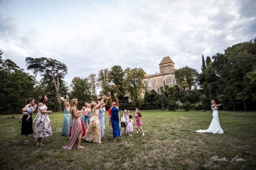
<svg viewBox="0 0 256 170">
<path fill-rule="evenodd" d="M 119 117 L 118 117 L 118 111 L 115 106 L 111 109 L 111 125 L 113 128 L 113 137 L 119 137 L 120 136 L 120 129 L 119 129 Z"/>
</svg>

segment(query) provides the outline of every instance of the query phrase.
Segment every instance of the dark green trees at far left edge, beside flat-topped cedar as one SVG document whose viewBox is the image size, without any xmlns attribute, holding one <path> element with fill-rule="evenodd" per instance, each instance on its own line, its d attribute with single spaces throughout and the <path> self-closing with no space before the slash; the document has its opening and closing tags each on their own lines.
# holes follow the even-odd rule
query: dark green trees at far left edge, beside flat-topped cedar
<svg viewBox="0 0 256 170">
<path fill-rule="evenodd" d="M 3 60 L 2 54 L 0 50 L 0 113 L 21 113 L 26 99 L 34 97 L 36 80 L 12 60 Z"/>
</svg>

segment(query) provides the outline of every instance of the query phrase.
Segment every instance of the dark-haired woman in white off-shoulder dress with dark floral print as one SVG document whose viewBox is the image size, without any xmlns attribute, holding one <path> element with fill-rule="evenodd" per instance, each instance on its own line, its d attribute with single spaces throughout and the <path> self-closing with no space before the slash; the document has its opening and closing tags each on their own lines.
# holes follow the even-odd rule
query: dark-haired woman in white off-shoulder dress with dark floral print
<svg viewBox="0 0 256 170">
<path fill-rule="evenodd" d="M 47 107 L 45 102 L 47 101 L 46 95 L 39 96 L 38 115 L 36 118 L 36 126 L 34 128 L 34 144 L 37 146 L 44 146 L 41 142 L 42 137 L 52 135 L 52 127 L 48 114 L 52 114 L 51 111 L 46 111 Z"/>
</svg>

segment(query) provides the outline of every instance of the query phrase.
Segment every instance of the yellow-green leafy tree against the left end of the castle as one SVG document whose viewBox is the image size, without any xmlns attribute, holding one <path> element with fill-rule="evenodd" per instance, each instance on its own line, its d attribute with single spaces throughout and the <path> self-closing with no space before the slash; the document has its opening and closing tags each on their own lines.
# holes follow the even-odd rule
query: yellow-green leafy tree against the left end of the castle
<svg viewBox="0 0 256 170">
<path fill-rule="evenodd" d="M 123 79 L 123 87 L 135 107 L 141 107 L 144 104 L 142 93 L 146 88 L 143 85 L 142 79 L 145 78 L 142 68 L 129 68 L 125 69 L 125 77 Z"/>
</svg>

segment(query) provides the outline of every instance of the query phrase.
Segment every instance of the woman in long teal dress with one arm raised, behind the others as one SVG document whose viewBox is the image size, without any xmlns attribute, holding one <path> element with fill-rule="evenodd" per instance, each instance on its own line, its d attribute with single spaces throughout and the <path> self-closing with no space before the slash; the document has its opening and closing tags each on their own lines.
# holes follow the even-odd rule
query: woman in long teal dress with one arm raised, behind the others
<svg viewBox="0 0 256 170">
<path fill-rule="evenodd" d="M 61 135 L 63 136 L 69 135 L 70 124 L 71 124 L 70 112 L 69 112 L 70 106 L 67 100 L 68 100 L 68 96 L 66 97 L 64 102 L 64 119 L 62 124 L 62 131 L 61 131 Z"/>
</svg>

